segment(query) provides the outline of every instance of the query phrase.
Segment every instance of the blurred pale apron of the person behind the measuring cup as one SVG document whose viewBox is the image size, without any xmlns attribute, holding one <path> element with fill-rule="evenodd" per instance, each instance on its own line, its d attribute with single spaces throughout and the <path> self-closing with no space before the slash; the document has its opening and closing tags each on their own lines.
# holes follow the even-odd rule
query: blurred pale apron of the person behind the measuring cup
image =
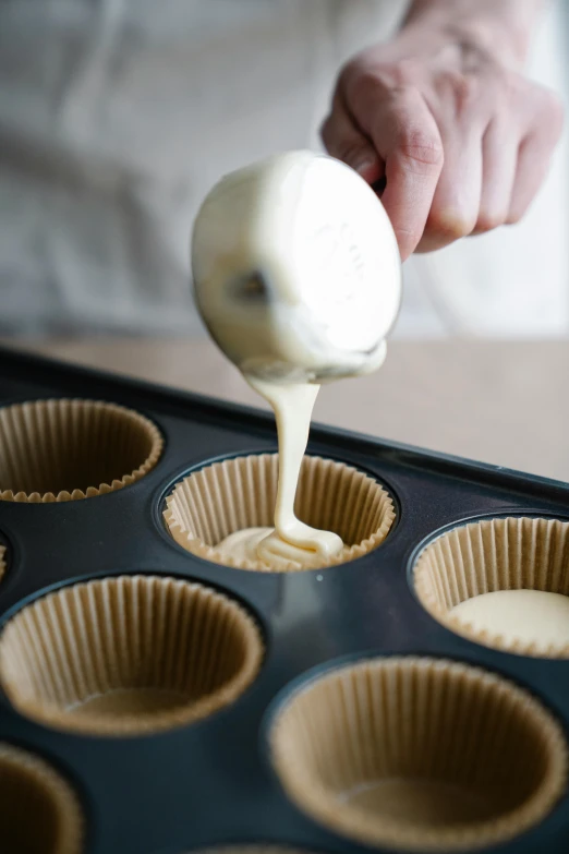
<svg viewBox="0 0 569 854">
<path fill-rule="evenodd" d="M 338 68 L 404 5 L 0 3 L 0 334 L 197 332 L 201 200 L 223 172 L 318 145 Z M 536 47 L 554 85 L 559 14 Z M 562 170 L 559 153 L 522 226 L 412 258 L 398 334 L 565 334 Z"/>
</svg>

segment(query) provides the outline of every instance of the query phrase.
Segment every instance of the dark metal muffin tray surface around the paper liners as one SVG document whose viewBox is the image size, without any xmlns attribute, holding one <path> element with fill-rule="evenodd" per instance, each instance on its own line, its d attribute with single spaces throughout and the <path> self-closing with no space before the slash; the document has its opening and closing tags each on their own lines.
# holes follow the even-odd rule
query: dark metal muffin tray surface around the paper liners
<svg viewBox="0 0 569 854">
<path fill-rule="evenodd" d="M 569 485 L 314 425 L 308 453 L 347 461 L 385 483 L 396 498 L 396 526 L 379 549 L 343 566 L 250 573 L 183 551 L 165 530 L 161 510 L 165 493 L 187 471 L 217 458 L 275 450 L 269 416 L 0 350 L 1 406 L 49 397 L 132 407 L 159 426 L 165 450 L 149 474 L 108 495 L 63 504 L 0 502 L 0 537 L 10 546 L 1 623 L 62 585 L 153 573 L 203 580 L 238 597 L 257 615 L 267 641 L 257 679 L 234 705 L 165 733 L 86 737 L 33 723 L 0 700 L 0 739 L 45 756 L 75 785 L 87 818 L 86 854 L 183 854 L 255 841 L 329 854 L 368 851 L 290 803 L 263 735 L 275 697 L 336 659 L 419 653 L 475 663 L 528 687 L 567 730 L 569 661 L 513 655 L 453 635 L 420 605 L 409 570 L 421 544 L 457 522 L 510 514 L 569 518 Z M 492 426 L 481 423 L 484 429 Z M 567 795 L 538 827 L 492 849 L 498 851 L 566 854 Z"/>
</svg>

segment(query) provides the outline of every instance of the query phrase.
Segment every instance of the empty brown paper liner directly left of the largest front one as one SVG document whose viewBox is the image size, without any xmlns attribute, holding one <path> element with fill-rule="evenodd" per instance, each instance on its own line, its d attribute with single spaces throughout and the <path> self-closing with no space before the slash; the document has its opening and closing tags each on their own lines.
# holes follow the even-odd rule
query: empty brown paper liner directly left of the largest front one
<svg viewBox="0 0 569 854">
<path fill-rule="evenodd" d="M 207 587 L 120 576 L 24 608 L 0 637 L 0 676 L 23 713 L 64 730 L 166 730 L 228 706 L 255 678 L 259 629 Z"/>
</svg>

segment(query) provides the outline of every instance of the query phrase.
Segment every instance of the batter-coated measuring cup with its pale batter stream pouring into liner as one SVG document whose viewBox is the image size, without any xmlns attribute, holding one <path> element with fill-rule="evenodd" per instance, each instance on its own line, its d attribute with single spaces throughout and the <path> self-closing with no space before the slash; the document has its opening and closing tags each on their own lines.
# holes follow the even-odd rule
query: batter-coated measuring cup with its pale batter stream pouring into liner
<svg viewBox="0 0 569 854">
<path fill-rule="evenodd" d="M 237 531 L 217 549 L 269 566 L 322 565 L 343 543 L 294 516 L 299 472 L 320 383 L 385 359 L 401 297 L 389 219 L 349 167 L 288 153 L 214 188 L 195 222 L 192 265 L 202 316 L 273 407 L 279 442 L 275 530 Z"/>
</svg>

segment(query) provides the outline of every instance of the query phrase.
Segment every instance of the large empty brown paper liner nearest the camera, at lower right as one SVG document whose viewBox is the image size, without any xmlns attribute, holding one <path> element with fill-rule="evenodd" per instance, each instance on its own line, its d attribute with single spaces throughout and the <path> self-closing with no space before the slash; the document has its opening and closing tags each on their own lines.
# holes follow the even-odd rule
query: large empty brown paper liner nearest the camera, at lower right
<svg viewBox="0 0 569 854">
<path fill-rule="evenodd" d="M 404 851 L 471 851 L 536 825 L 567 775 L 561 727 L 526 691 L 427 658 L 310 683 L 270 733 L 289 796 L 329 829 Z"/>
</svg>

